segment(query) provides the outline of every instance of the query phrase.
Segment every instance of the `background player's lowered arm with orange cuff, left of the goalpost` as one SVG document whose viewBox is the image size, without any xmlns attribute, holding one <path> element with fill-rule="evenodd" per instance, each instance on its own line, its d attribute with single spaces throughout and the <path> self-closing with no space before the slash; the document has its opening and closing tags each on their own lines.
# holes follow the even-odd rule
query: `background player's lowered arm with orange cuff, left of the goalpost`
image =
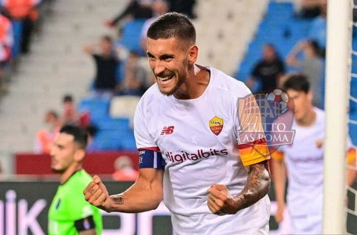
<svg viewBox="0 0 357 235">
<path fill-rule="evenodd" d="M 273 158 L 273 180 L 275 188 L 275 199 L 277 202 L 277 211 L 275 214 L 275 221 L 280 223 L 283 221 L 285 209 L 285 184 L 286 184 L 286 167 L 282 152 L 275 151 L 272 153 Z"/>
</svg>

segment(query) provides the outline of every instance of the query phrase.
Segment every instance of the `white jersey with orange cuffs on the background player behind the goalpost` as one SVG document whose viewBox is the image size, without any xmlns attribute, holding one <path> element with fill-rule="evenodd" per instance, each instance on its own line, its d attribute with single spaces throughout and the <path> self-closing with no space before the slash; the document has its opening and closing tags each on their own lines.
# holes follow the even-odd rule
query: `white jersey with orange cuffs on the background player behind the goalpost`
<svg viewBox="0 0 357 235">
<path fill-rule="evenodd" d="M 325 132 L 325 113 L 314 108 L 316 121 L 312 126 L 299 126 L 295 120 L 292 130 L 295 130 L 294 142 L 281 146 L 272 154 L 275 159 L 284 159 L 288 171 L 287 203 L 292 217 L 301 215 L 322 215 L 323 212 L 323 175 Z M 348 155 L 351 159 L 352 144 L 347 140 Z"/>
</svg>

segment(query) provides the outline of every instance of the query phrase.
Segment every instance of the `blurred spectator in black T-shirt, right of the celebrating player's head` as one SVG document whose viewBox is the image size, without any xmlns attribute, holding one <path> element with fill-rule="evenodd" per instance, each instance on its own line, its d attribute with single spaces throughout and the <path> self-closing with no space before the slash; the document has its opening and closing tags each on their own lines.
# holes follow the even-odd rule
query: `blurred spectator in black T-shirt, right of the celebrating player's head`
<svg viewBox="0 0 357 235">
<path fill-rule="evenodd" d="M 245 83 L 252 89 L 259 79 L 262 83 L 260 91 L 268 91 L 276 87 L 284 73 L 284 63 L 278 57 L 274 45 L 266 44 L 263 48 L 263 58 L 254 66 L 251 76 Z"/>
</svg>

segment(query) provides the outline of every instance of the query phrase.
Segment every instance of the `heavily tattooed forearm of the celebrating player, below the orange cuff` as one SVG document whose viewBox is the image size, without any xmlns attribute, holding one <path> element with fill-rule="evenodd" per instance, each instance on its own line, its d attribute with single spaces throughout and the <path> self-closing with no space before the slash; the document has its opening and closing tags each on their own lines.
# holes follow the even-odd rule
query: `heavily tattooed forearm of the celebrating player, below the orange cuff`
<svg viewBox="0 0 357 235">
<path fill-rule="evenodd" d="M 236 197 L 237 210 L 253 205 L 269 191 L 270 172 L 268 161 L 247 167 L 248 177 L 242 192 Z"/>
</svg>

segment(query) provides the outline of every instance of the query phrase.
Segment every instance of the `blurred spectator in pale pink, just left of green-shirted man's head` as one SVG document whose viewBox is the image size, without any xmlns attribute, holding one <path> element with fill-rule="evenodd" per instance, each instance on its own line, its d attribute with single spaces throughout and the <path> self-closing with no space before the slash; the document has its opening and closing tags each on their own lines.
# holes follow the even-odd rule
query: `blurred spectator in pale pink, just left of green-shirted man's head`
<svg viewBox="0 0 357 235">
<path fill-rule="evenodd" d="M 49 154 L 50 147 L 61 128 L 61 120 L 57 112 L 53 110 L 49 110 L 45 114 L 44 122 L 47 127 L 39 130 L 35 138 L 34 152 L 38 154 Z"/>
</svg>

